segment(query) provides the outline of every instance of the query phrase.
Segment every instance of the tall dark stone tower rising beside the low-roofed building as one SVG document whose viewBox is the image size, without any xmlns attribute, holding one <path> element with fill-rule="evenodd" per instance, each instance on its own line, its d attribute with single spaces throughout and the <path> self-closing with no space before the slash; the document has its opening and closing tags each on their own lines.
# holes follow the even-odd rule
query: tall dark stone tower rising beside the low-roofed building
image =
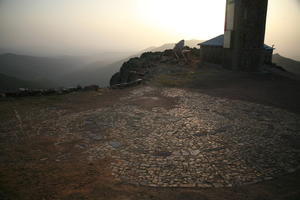
<svg viewBox="0 0 300 200">
<path fill-rule="evenodd" d="M 268 0 L 226 0 L 224 65 L 257 71 L 263 64 Z"/>
</svg>

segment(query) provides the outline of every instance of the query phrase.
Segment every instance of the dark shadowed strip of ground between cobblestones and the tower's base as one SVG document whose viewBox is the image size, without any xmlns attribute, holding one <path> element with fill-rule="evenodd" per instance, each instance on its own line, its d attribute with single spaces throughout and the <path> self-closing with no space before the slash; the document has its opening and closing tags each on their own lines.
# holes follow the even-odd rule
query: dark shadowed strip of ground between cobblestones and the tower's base
<svg viewBox="0 0 300 200">
<path fill-rule="evenodd" d="M 215 73 L 188 88 L 215 97 L 273 106 L 300 114 L 300 81 L 275 74 Z"/>
</svg>

